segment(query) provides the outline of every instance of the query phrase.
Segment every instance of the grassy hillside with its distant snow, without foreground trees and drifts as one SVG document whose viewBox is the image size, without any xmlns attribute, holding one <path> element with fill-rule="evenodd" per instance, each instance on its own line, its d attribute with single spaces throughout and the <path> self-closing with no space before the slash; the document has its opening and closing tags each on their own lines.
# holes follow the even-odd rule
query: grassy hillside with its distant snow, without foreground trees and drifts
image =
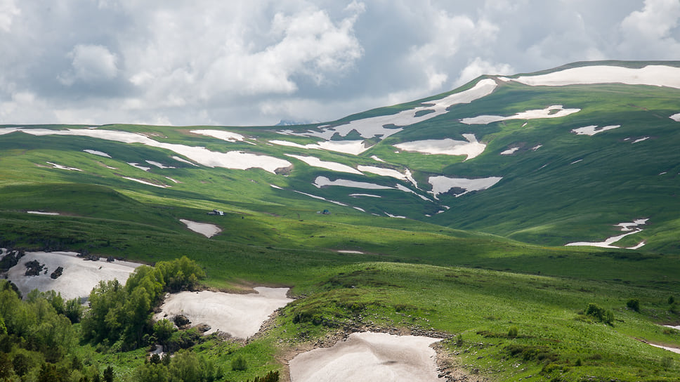
<svg viewBox="0 0 680 382">
<path fill-rule="evenodd" d="M 305 298 L 230 350 L 279 368 L 278 338 L 398 327 L 448 336 L 495 381 L 629 381 L 646 365 L 672 381 L 679 365 L 640 340 L 680 347 L 658 325 L 680 322 L 679 143 L 680 62 L 483 76 L 322 124 L 0 126 L 0 246 L 187 255 L 214 289 L 290 286 Z"/>
</svg>

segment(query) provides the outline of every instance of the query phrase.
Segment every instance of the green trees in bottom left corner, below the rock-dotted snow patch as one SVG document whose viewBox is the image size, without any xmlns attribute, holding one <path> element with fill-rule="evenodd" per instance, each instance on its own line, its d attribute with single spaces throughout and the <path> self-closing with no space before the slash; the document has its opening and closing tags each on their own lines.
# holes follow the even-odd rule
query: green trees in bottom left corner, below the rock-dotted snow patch
<svg viewBox="0 0 680 382">
<path fill-rule="evenodd" d="M 102 374 L 71 354 L 77 345 L 72 322 L 81 312 L 77 300 L 53 291 L 32 291 L 22 300 L 13 284 L 0 280 L 0 380 L 112 381 L 112 369 Z"/>
</svg>

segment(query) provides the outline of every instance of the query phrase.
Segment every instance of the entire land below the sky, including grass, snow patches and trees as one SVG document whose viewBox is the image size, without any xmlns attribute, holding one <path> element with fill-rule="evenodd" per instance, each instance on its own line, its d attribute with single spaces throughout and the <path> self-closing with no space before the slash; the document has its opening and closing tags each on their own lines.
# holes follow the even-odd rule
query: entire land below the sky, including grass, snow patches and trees
<svg viewBox="0 0 680 382">
<path fill-rule="evenodd" d="M 0 380 L 679 381 L 679 147 L 678 61 L 0 126 Z"/>
</svg>

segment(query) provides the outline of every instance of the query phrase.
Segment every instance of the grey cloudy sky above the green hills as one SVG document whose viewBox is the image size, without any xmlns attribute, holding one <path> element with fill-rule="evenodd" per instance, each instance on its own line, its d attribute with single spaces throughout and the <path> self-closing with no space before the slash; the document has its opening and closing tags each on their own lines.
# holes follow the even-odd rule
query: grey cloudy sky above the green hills
<svg viewBox="0 0 680 382">
<path fill-rule="evenodd" d="M 680 60 L 680 0 L 0 0 L 0 124 L 331 121 L 480 74 Z"/>
</svg>

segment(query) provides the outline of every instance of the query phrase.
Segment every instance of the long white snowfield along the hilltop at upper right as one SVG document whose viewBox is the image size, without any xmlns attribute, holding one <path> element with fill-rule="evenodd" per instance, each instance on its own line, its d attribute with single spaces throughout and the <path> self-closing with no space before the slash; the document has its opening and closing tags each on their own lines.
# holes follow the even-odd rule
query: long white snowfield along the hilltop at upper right
<svg viewBox="0 0 680 382">
<path fill-rule="evenodd" d="M 639 69 L 594 65 L 573 67 L 548 74 L 522 76 L 517 81 L 530 86 L 563 86 L 575 84 L 629 84 L 680 88 L 680 67 L 648 65 Z"/>
</svg>

